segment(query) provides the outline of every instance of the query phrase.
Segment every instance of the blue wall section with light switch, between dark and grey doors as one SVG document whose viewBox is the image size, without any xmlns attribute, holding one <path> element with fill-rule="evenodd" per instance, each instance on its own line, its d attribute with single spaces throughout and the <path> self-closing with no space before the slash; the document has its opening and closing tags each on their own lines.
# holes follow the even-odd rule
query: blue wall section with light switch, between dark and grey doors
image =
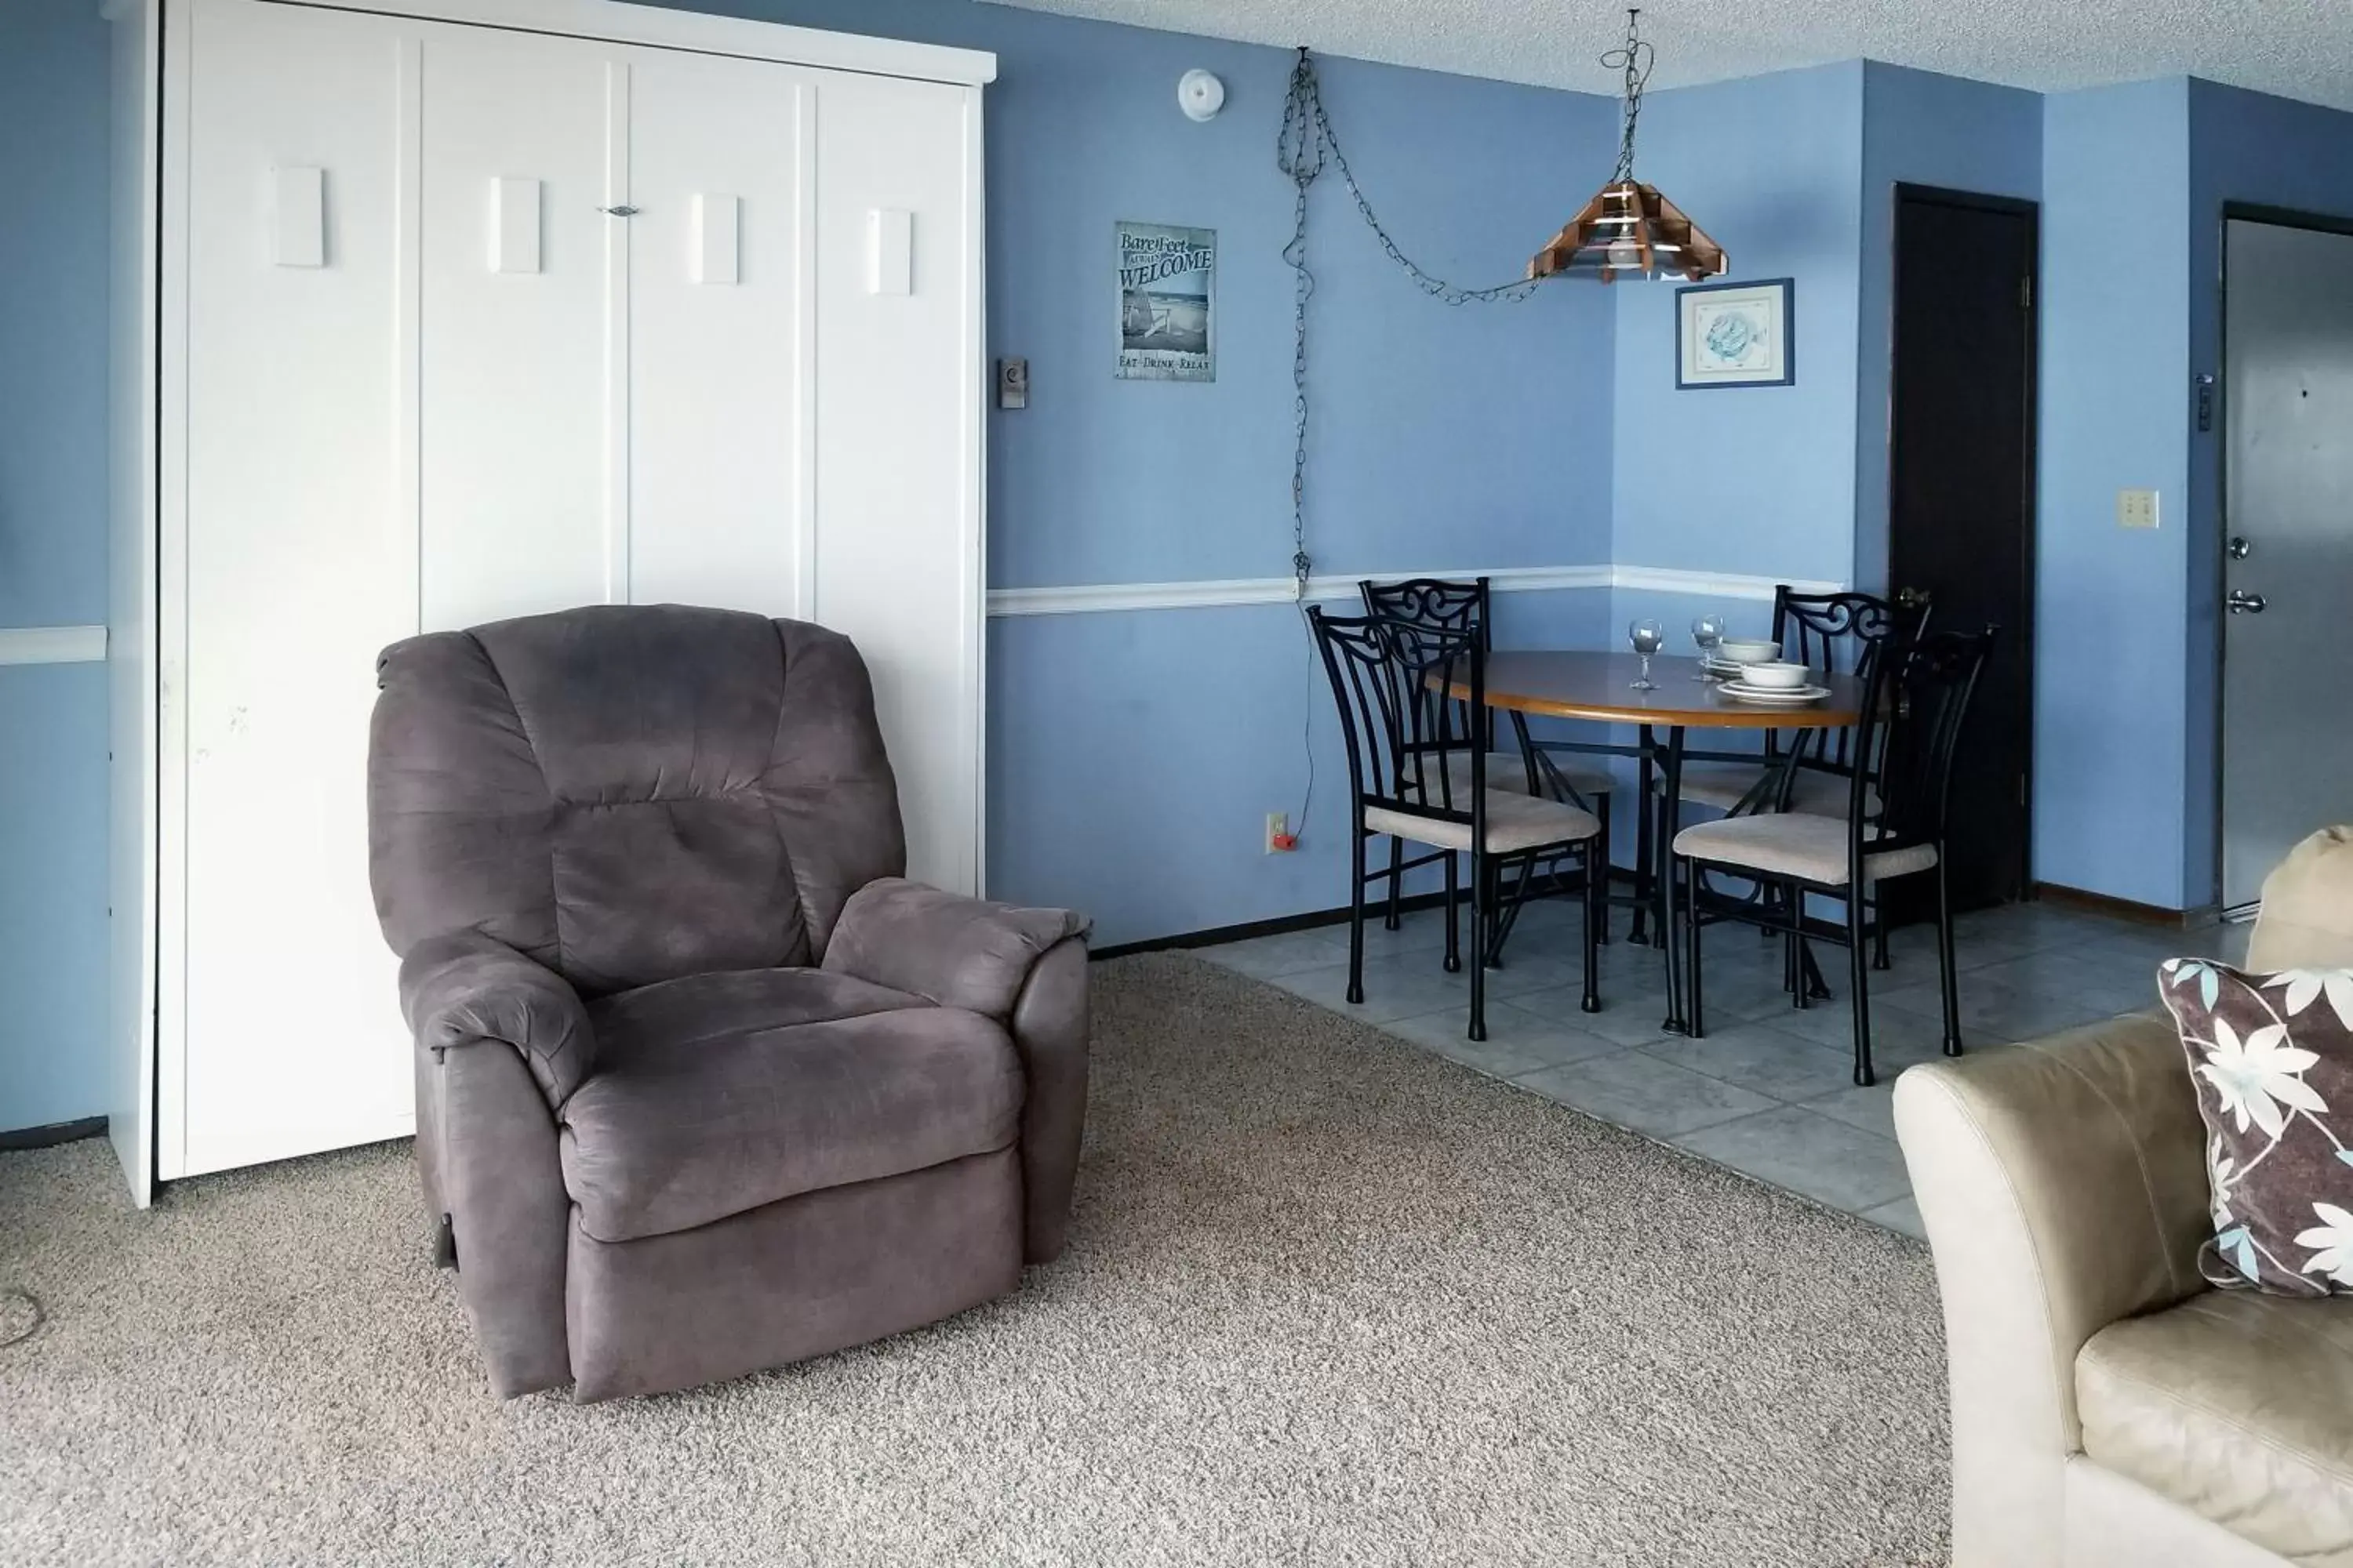
<svg viewBox="0 0 2353 1568">
<path fill-rule="evenodd" d="M 2115 491 L 2188 489 L 2188 205 L 2186 80 L 2045 99 L 2033 863 L 2158 907 L 2184 893 L 2188 531 L 2115 527 Z"/>
</svg>

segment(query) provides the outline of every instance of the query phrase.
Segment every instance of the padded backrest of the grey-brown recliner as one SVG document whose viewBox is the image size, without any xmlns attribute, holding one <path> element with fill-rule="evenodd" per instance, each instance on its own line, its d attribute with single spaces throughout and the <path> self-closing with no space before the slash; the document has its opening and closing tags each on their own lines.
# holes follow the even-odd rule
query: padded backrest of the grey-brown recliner
<svg viewBox="0 0 2353 1568">
<path fill-rule="evenodd" d="M 866 663 L 821 625 L 595 604 L 395 642 L 376 684 L 395 952 L 482 931 L 588 994 L 814 964 L 906 870 Z"/>
</svg>

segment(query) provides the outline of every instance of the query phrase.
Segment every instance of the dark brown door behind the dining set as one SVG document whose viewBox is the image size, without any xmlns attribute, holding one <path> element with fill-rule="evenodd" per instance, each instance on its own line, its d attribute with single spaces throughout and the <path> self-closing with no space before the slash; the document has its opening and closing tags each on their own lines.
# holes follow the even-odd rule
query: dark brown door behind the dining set
<svg viewBox="0 0 2353 1568">
<path fill-rule="evenodd" d="M 2035 207 L 1897 186 L 1887 581 L 1998 625 L 1953 764 L 1955 910 L 2026 896 L 2033 773 Z"/>
</svg>

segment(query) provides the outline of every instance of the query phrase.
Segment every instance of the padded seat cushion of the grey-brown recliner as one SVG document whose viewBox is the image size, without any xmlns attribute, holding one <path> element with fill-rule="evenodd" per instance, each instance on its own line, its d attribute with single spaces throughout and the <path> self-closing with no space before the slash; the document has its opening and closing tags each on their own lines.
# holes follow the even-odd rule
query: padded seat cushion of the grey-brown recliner
<svg viewBox="0 0 2353 1568">
<path fill-rule="evenodd" d="M 988 1018 L 840 973 L 689 976 L 600 1001 L 562 1110 L 581 1229 L 631 1241 L 1014 1143 L 1024 1079 Z"/>
</svg>

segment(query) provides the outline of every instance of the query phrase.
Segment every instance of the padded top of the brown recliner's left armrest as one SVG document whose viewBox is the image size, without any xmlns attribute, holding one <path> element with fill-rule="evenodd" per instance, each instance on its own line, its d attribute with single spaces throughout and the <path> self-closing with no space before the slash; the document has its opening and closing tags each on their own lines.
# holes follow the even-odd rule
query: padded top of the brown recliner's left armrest
<svg viewBox="0 0 2353 1568">
<path fill-rule="evenodd" d="M 428 936 L 400 959 L 400 1011 L 419 1048 L 485 1039 L 522 1053 L 548 1107 L 562 1107 L 595 1065 L 595 1032 L 579 992 L 480 931 Z"/>
</svg>

